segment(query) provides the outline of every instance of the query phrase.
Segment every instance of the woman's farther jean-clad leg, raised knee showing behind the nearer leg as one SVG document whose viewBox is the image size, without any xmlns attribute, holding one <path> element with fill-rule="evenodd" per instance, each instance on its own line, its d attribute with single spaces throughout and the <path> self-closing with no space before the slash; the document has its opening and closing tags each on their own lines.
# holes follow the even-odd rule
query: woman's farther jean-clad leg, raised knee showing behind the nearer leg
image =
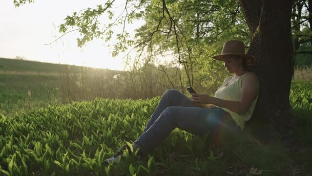
<svg viewBox="0 0 312 176">
<path fill-rule="evenodd" d="M 168 89 L 163 94 L 151 118 L 146 124 L 146 128 L 144 129 L 144 132 L 146 132 L 154 124 L 154 122 L 157 120 L 159 115 L 167 107 L 170 107 L 170 106 L 196 107 L 195 104 L 192 102 L 192 100 L 189 99 L 180 91 L 175 90 L 175 89 Z"/>
</svg>

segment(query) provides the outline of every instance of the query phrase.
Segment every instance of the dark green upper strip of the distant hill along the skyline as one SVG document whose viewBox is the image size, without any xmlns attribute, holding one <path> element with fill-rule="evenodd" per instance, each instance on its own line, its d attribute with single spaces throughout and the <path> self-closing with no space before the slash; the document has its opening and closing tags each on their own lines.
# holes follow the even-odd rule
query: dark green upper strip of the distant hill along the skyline
<svg viewBox="0 0 312 176">
<path fill-rule="evenodd" d="M 62 64 L 52 64 L 52 63 L 43 63 L 37 61 L 27 61 L 27 60 L 18 60 L 18 59 L 5 59 L 0 58 L 0 71 L 31 71 L 31 72 L 46 72 L 46 73 L 57 73 L 64 70 L 65 66 Z M 70 72 L 80 72 L 83 66 L 73 66 L 70 65 Z M 91 68 L 88 69 L 96 70 L 110 70 L 110 69 L 101 69 L 101 68 Z M 117 70 L 112 70 L 117 71 Z"/>
</svg>

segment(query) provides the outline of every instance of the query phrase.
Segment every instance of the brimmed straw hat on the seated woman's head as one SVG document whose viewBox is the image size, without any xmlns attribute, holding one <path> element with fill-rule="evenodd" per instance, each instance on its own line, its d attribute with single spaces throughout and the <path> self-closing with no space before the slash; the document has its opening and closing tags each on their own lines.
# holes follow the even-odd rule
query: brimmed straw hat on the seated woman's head
<svg viewBox="0 0 312 176">
<path fill-rule="evenodd" d="M 245 54 L 245 46 L 242 41 L 239 40 L 229 40 L 224 43 L 222 52 L 220 55 L 212 56 L 213 59 L 223 61 L 223 55 L 236 55 L 242 56 L 246 60 L 248 66 L 253 65 L 254 57 L 250 54 Z"/>
</svg>

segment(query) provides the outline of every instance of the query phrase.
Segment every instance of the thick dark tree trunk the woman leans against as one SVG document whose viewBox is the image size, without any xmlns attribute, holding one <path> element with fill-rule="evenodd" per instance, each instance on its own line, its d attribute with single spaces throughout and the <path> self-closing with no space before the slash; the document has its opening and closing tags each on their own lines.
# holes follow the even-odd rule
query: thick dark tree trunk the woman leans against
<svg viewBox="0 0 312 176">
<path fill-rule="evenodd" d="M 293 73 L 291 6 L 293 0 L 240 0 L 250 28 L 250 49 L 256 61 L 252 70 L 260 83 L 252 120 L 270 123 L 277 132 L 288 130 L 289 93 Z"/>
</svg>

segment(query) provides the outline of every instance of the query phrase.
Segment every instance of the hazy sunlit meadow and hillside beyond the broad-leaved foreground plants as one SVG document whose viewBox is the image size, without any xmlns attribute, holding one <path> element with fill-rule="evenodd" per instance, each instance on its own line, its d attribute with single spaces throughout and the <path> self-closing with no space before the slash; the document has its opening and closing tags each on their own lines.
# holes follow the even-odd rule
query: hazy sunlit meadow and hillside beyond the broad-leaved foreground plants
<svg viewBox="0 0 312 176">
<path fill-rule="evenodd" d="M 152 98 L 171 84 L 181 88 L 178 80 L 169 82 L 165 77 L 153 69 L 122 72 L 0 58 L 0 113 L 12 115 L 96 97 Z"/>
</svg>

